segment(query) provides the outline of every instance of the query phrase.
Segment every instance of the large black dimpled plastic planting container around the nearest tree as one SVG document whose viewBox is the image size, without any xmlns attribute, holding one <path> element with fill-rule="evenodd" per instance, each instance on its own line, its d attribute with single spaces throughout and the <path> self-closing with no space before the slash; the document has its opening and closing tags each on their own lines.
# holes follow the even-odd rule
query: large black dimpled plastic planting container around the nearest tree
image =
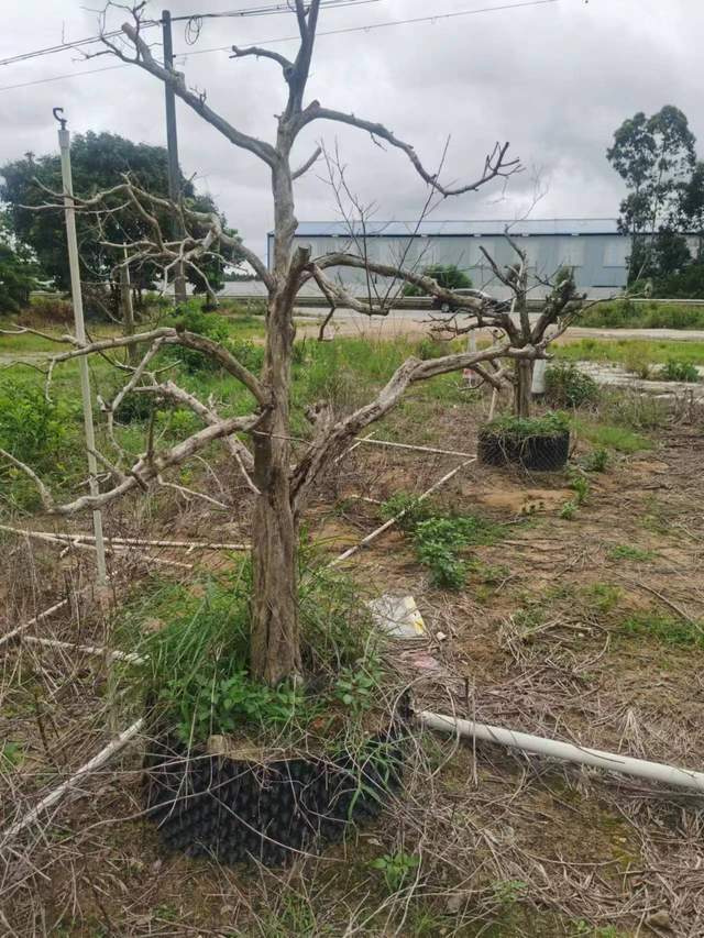
<svg viewBox="0 0 704 938">
<path fill-rule="evenodd" d="M 353 758 L 264 764 L 190 752 L 163 737 L 145 760 L 147 816 L 162 842 L 223 863 L 282 865 L 380 814 L 402 783 L 404 729 L 394 722 Z"/>
</svg>

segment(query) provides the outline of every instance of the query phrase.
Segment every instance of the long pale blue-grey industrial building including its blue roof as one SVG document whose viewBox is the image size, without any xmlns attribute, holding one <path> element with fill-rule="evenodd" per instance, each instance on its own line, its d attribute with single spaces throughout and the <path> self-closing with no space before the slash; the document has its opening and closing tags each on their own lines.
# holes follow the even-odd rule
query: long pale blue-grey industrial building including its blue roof
<svg viewBox="0 0 704 938">
<path fill-rule="evenodd" d="M 309 246 L 314 257 L 333 251 L 366 253 L 371 261 L 403 262 L 413 271 L 430 264 L 455 264 L 475 287 L 503 298 L 506 290 L 480 249 L 484 247 L 499 266 L 515 263 L 516 254 L 504 236 L 507 229 L 526 251 L 534 297 L 544 294 L 539 280 L 550 278 L 563 266 L 573 269 L 578 287 L 591 297 L 610 295 L 626 285 L 630 239 L 619 234 L 616 219 L 612 218 L 374 221 L 366 222 L 364 230 L 359 223 L 351 230 L 346 222 L 306 221 L 298 225 L 296 243 Z M 273 233 L 267 247 L 271 261 Z M 337 275 L 355 293 L 364 291 L 363 271 L 337 268 Z"/>
</svg>

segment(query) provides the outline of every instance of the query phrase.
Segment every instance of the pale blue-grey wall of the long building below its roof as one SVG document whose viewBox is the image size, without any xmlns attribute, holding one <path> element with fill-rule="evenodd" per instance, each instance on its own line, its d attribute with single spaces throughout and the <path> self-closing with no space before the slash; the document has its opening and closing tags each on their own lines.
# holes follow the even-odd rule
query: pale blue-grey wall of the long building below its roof
<svg viewBox="0 0 704 938">
<path fill-rule="evenodd" d="M 598 297 L 617 291 L 626 285 L 626 261 L 630 251 L 629 239 L 622 234 L 534 234 L 516 238 L 527 251 L 531 276 L 531 296 L 544 295 L 544 288 L 536 278 L 549 279 L 561 266 L 571 266 L 580 289 L 588 296 Z M 370 260 L 395 264 L 411 271 L 421 271 L 430 264 L 455 264 L 472 278 L 475 287 L 486 289 L 498 298 L 507 290 L 497 283 L 486 258 L 481 252 L 485 247 L 499 266 L 515 263 L 516 254 L 502 235 L 495 236 L 388 236 L 367 238 L 366 249 L 361 241 L 348 236 L 296 236 L 296 244 L 309 246 L 311 255 L 319 257 L 334 251 L 346 251 L 362 256 L 364 250 Z M 272 236 L 270 235 L 270 257 Z M 355 293 L 364 290 L 366 276 L 363 271 L 338 268 L 336 275 Z M 328 276 L 333 274 L 332 269 Z M 380 286 L 384 278 L 377 277 Z"/>
</svg>

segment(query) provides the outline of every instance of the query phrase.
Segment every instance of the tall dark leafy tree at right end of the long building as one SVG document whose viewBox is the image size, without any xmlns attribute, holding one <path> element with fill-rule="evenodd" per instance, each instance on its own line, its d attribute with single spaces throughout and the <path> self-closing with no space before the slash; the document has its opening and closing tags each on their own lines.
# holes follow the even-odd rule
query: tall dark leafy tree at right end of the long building
<svg viewBox="0 0 704 938">
<path fill-rule="evenodd" d="M 704 297 L 704 162 L 685 114 L 667 104 L 624 121 L 606 156 L 628 188 L 619 230 L 631 238 L 629 285 Z"/>
</svg>

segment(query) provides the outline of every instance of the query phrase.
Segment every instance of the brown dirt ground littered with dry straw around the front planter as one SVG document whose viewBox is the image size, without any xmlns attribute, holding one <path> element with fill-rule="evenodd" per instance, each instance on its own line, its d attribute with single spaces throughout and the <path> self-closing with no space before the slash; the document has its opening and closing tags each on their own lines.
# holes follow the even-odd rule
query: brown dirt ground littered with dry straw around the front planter
<svg viewBox="0 0 704 938">
<path fill-rule="evenodd" d="M 471 451 L 484 407 L 425 401 L 421 420 L 399 411 L 383 432 Z M 586 449 L 578 441 L 574 457 Z M 354 496 L 418 493 L 458 462 L 360 446 L 321 490 L 310 537 L 334 556 L 380 523 L 377 507 Z M 425 617 L 427 642 L 395 653 L 415 674 L 417 707 L 702 770 L 703 470 L 701 423 L 670 422 L 652 433 L 652 449 L 590 473 L 590 495 L 568 520 L 566 473 L 469 466 L 439 493 L 437 510 L 505 527 L 494 544 L 466 552 L 460 592 L 430 585 L 400 531 L 359 553 L 348 569 L 371 594 L 410 593 Z M 234 521 L 196 505 L 162 503 L 158 514 L 154 504 L 123 506 L 108 523 L 113 534 L 237 540 L 249 529 L 244 493 L 239 506 Z M 16 540 L 3 553 L 10 624 L 48 606 L 65 581 L 89 582 L 87 555 L 58 561 L 56 549 Z M 228 563 L 223 554 L 151 553 Z M 123 561 L 117 595 L 150 569 L 138 556 Z M 634 617 L 656 626 L 634 632 Z M 106 640 L 107 629 L 86 607 L 36 633 L 85 643 Z M 7 829 L 105 744 L 106 667 L 30 643 L 0 654 L 0 738 L 23 753 L 2 766 Z M 120 725 L 132 717 L 121 714 Z M 704 802 L 684 791 L 428 738 L 380 825 L 286 871 L 241 870 L 162 851 L 140 817 L 140 759 L 133 747 L 4 845 L 3 935 L 704 934 Z M 370 861 L 394 850 L 420 865 L 391 894 Z"/>
</svg>

